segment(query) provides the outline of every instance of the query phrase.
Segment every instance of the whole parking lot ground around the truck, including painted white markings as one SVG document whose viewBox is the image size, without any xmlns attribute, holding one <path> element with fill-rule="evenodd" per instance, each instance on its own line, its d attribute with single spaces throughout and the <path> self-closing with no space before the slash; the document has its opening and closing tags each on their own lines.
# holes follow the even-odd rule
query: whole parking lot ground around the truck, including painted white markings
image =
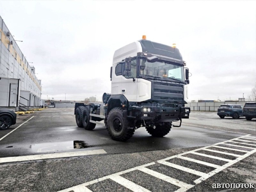
<svg viewBox="0 0 256 192">
<path fill-rule="evenodd" d="M 0 190 L 220 191 L 214 183 L 256 183 L 255 126 L 193 111 L 163 138 L 141 127 L 118 142 L 104 126 L 77 127 L 73 108 L 47 108 L 0 132 Z"/>
</svg>

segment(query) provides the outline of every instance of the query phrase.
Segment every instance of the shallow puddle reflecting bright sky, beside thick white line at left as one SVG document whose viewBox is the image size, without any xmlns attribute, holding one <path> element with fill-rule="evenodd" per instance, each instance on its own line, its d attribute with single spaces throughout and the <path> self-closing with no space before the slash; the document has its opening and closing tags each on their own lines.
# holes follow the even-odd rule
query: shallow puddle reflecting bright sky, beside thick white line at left
<svg viewBox="0 0 256 192">
<path fill-rule="evenodd" d="M 30 145 L 30 148 L 35 152 L 54 152 L 65 151 L 70 149 L 82 149 L 91 147 L 84 141 L 65 141 L 56 143 L 41 143 Z"/>
</svg>

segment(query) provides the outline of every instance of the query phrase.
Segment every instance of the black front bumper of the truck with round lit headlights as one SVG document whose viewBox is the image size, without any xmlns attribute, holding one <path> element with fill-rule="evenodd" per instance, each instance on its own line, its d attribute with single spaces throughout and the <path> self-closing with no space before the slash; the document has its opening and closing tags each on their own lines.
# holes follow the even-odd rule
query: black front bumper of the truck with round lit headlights
<svg viewBox="0 0 256 192">
<path fill-rule="evenodd" d="M 157 106 L 136 106 L 129 108 L 127 118 L 137 120 L 154 120 L 157 122 L 170 122 L 181 118 L 189 118 L 190 108 L 178 106 L 164 107 L 159 104 Z"/>
</svg>

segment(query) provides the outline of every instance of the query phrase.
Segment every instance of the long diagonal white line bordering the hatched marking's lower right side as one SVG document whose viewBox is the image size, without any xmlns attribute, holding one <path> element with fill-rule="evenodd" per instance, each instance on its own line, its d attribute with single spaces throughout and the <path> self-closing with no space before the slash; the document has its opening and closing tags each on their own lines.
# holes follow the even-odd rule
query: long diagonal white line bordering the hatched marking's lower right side
<svg viewBox="0 0 256 192">
<path fill-rule="evenodd" d="M 229 167 L 229 166 L 235 164 L 235 163 L 238 162 L 238 161 L 241 161 L 241 160 L 244 159 L 245 157 L 248 157 L 248 156 L 252 155 L 252 154 L 255 153 L 255 152 L 256 152 L 256 150 L 252 150 L 252 151 L 250 151 L 249 153 L 246 153 L 246 154 L 244 154 L 243 156 L 238 157 L 237 159 L 235 159 L 235 160 L 233 160 L 233 161 L 231 161 L 231 162 L 229 162 L 229 163 L 227 163 L 227 164 L 225 164 L 225 165 L 223 165 L 223 166 L 221 166 L 221 167 L 219 167 L 219 168 L 213 170 L 212 172 L 210 172 L 210 173 L 208 173 L 208 174 L 205 174 L 203 177 L 198 178 L 197 180 L 194 180 L 194 182 L 195 182 L 196 184 L 201 183 L 202 181 L 208 179 L 209 177 L 212 177 L 212 175 L 214 175 L 214 174 L 216 174 L 216 173 L 218 173 L 218 172 L 224 170 L 225 168 L 227 168 L 227 167 Z"/>
</svg>

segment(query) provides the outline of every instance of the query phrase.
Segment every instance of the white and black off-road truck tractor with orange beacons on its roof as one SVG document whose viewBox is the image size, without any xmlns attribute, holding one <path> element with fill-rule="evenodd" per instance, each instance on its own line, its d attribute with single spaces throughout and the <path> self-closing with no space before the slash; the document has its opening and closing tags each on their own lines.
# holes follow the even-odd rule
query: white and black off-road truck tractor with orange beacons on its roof
<svg viewBox="0 0 256 192">
<path fill-rule="evenodd" d="M 176 46 L 146 40 L 128 44 L 114 53 L 110 69 L 111 94 L 102 103 L 76 103 L 78 127 L 106 126 L 113 140 L 125 141 L 139 127 L 154 137 L 168 134 L 189 118 L 188 68 Z M 172 122 L 180 121 L 179 125 Z"/>
</svg>

